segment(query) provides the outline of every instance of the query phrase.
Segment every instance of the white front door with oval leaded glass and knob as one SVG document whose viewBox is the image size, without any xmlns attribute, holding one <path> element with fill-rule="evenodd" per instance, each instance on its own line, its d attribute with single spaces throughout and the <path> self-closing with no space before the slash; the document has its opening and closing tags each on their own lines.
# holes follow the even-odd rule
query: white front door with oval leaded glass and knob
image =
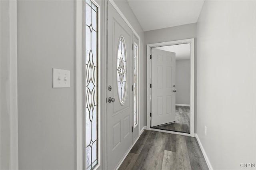
<svg viewBox="0 0 256 170">
<path fill-rule="evenodd" d="M 108 3 L 107 168 L 116 169 L 132 146 L 133 32 Z"/>
</svg>

